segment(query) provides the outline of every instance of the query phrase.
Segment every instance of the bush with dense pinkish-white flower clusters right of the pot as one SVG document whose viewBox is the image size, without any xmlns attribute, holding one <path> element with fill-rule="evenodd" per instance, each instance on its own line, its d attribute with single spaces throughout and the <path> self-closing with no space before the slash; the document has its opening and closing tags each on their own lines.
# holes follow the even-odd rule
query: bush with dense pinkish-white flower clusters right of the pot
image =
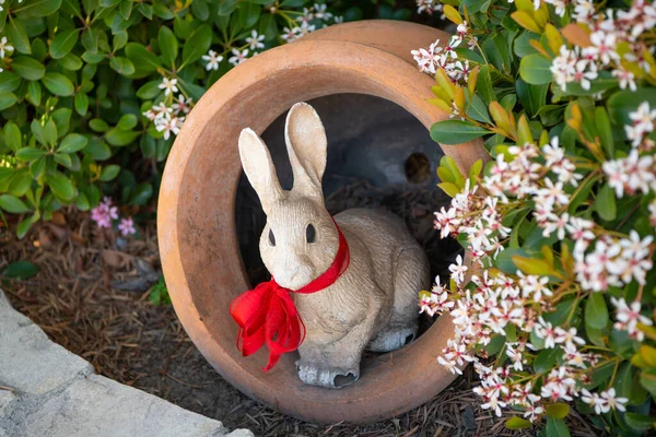
<svg viewBox="0 0 656 437">
<path fill-rule="evenodd" d="M 656 8 L 434 3 L 418 5 L 457 33 L 412 52 L 452 114 L 432 138 L 483 138 L 492 158 L 438 168 L 453 201 L 435 227 L 468 250 L 420 296 L 455 323 L 438 362 L 473 363 L 482 408 L 515 412 L 512 429 L 569 436 L 571 406 L 611 435 L 653 429 Z"/>
</svg>

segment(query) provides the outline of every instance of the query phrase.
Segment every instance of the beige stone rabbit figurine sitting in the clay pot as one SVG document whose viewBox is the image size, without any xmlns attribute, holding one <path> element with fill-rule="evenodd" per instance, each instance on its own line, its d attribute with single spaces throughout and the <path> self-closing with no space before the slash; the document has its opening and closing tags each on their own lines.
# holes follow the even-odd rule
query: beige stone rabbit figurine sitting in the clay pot
<svg viewBox="0 0 656 437">
<path fill-rule="evenodd" d="M 341 388 L 360 377 L 364 350 L 394 351 L 414 339 L 418 292 L 429 286 L 429 261 L 390 213 L 352 209 L 331 217 L 321 191 L 326 131 L 308 104 L 290 109 L 285 142 L 294 177 L 290 191 L 281 188 L 262 140 L 250 129 L 239 135 L 244 172 L 267 214 L 260 253 L 276 282 L 297 291 L 331 264 L 340 244 L 336 224 L 341 229 L 350 251 L 343 274 L 317 293 L 292 293 L 305 324 L 298 377 L 307 385 Z"/>
</svg>

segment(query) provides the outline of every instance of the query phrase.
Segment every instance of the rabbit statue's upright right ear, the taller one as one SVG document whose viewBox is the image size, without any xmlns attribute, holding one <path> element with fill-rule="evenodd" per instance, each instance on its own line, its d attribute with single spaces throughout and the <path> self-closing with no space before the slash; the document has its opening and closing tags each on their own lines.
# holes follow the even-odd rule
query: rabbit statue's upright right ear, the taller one
<svg viewBox="0 0 656 437">
<path fill-rule="evenodd" d="M 321 178 L 326 169 L 328 141 L 319 115 L 308 104 L 297 103 L 288 114 L 284 130 L 294 173 L 293 190 L 324 199 Z"/>
</svg>

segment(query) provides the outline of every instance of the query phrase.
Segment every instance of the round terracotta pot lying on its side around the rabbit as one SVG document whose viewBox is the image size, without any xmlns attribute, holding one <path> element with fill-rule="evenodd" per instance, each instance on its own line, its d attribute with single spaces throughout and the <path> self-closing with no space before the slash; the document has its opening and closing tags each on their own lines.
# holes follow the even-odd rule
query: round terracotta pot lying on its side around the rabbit
<svg viewBox="0 0 656 437">
<path fill-rule="evenodd" d="M 225 74 L 197 104 L 164 172 L 157 228 L 166 284 L 175 310 L 206 358 L 230 382 L 273 409 L 312 422 L 366 423 L 430 400 L 455 378 L 436 357 L 453 334 L 446 317 L 410 345 L 363 361 L 360 380 L 341 390 L 303 385 L 295 354 L 265 374 L 262 349 L 244 358 L 235 345 L 232 299 L 249 288 L 235 232 L 242 172 L 237 138 L 261 133 L 294 103 L 338 93 L 387 98 L 426 129 L 448 118 L 426 98 L 434 84 L 410 50 L 448 36 L 403 22 L 341 24 L 249 59 Z M 282 132 L 281 132 L 282 134 Z M 445 146 L 462 172 L 484 155 L 480 142 Z M 329 152 L 330 153 L 330 152 Z"/>
</svg>

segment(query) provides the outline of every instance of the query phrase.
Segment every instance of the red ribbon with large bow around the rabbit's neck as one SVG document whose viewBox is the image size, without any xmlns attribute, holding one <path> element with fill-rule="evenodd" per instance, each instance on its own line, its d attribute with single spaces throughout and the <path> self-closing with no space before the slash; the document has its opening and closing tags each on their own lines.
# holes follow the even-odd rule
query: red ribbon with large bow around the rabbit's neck
<svg viewBox="0 0 656 437">
<path fill-rule="evenodd" d="M 323 274 L 296 291 L 281 287 L 271 277 L 271 281 L 241 294 L 230 305 L 230 315 L 239 326 L 237 347 L 242 355 L 249 356 L 267 344 L 269 364 L 262 368 L 265 371 L 276 366 L 282 354 L 297 350 L 305 339 L 305 324 L 290 293 L 320 292 L 332 285 L 349 265 L 349 245 L 337 223 L 335 226 L 339 248 Z"/>
</svg>

